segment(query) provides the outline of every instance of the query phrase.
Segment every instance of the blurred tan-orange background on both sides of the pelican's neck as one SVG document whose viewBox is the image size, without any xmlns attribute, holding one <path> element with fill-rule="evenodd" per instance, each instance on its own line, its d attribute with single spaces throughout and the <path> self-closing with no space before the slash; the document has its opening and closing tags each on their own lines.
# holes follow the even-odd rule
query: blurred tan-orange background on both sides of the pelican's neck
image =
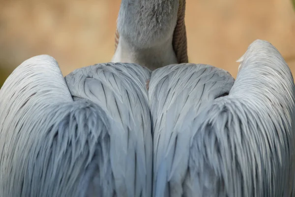
<svg viewBox="0 0 295 197">
<path fill-rule="evenodd" d="M 255 39 L 270 41 L 295 73 L 295 0 L 186 0 L 191 63 L 224 68 Z M 110 62 L 120 0 L 0 0 L 0 86 L 24 60 L 53 56 L 63 75 Z"/>
</svg>

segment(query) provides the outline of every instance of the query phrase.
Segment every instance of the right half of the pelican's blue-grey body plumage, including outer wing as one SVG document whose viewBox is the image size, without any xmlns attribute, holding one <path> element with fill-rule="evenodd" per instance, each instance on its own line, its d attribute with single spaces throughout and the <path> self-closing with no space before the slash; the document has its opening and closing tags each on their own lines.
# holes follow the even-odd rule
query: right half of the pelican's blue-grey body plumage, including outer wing
<svg viewBox="0 0 295 197">
<path fill-rule="evenodd" d="M 295 85 L 256 40 L 234 78 L 208 65 L 156 69 L 149 82 L 153 197 L 295 195 Z"/>
</svg>

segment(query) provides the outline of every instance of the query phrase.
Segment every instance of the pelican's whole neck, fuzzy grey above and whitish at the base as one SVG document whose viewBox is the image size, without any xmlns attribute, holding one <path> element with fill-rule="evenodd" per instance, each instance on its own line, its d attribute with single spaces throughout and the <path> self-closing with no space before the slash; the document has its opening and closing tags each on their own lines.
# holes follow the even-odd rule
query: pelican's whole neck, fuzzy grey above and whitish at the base
<svg viewBox="0 0 295 197">
<path fill-rule="evenodd" d="M 118 15 L 118 47 L 113 62 L 154 69 L 176 64 L 173 33 L 179 0 L 122 0 Z"/>
</svg>

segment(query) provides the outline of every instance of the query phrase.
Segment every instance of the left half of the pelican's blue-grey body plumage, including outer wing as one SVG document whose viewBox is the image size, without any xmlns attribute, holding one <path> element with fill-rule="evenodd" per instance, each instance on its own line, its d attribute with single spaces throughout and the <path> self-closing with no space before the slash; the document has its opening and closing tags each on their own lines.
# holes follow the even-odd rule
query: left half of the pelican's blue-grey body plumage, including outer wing
<svg viewBox="0 0 295 197">
<path fill-rule="evenodd" d="M 109 78 L 85 74 L 95 67 Z M 90 66 L 66 77 L 79 87 L 68 89 L 50 56 L 18 66 L 0 90 L 0 196 L 150 196 L 148 77 L 140 66 Z M 96 94 L 95 84 L 108 92 Z M 90 90 L 98 99 L 82 94 Z M 104 95 L 120 106 L 97 102 Z"/>
</svg>

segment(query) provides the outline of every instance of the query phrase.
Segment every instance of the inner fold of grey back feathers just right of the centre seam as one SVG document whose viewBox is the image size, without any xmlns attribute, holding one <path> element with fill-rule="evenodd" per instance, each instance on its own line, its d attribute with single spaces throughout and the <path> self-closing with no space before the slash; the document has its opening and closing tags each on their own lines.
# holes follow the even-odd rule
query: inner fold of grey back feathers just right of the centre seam
<svg viewBox="0 0 295 197">
<path fill-rule="evenodd" d="M 193 120 L 215 98 L 228 94 L 233 84 L 228 72 L 208 65 L 172 65 L 152 72 L 154 197 L 184 194 Z"/>
</svg>

